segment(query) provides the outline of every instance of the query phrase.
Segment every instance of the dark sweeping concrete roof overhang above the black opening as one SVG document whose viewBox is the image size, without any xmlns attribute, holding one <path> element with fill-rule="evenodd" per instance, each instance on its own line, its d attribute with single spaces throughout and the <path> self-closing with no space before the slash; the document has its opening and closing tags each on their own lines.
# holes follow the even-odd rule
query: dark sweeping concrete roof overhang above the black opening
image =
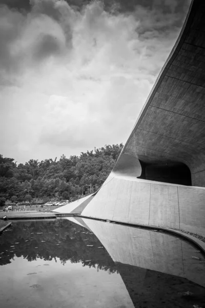
<svg viewBox="0 0 205 308">
<path fill-rule="evenodd" d="M 139 176 L 140 160 L 154 164 L 184 163 L 192 175 L 203 172 L 204 102 L 205 2 L 193 0 L 178 40 L 113 171 L 132 169 Z"/>
</svg>

